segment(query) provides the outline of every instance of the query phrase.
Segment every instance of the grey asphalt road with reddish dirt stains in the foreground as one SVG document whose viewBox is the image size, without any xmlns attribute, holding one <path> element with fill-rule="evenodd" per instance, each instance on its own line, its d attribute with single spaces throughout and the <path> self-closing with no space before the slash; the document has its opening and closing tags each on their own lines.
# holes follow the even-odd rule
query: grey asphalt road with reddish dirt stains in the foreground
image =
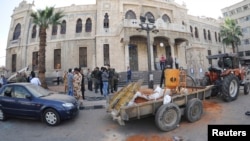
<svg viewBox="0 0 250 141">
<path fill-rule="evenodd" d="M 219 98 L 205 100 L 204 114 L 194 123 L 182 118 L 173 131 L 162 132 L 154 123 L 154 117 L 126 122 L 120 126 L 105 109 L 81 110 L 79 115 L 59 126 L 26 119 L 8 119 L 0 122 L 1 141 L 167 141 L 173 136 L 185 141 L 207 141 L 209 124 L 249 125 L 250 94 L 242 90 L 236 101 L 226 103 Z M 171 140 L 169 140 L 171 141 Z"/>
</svg>

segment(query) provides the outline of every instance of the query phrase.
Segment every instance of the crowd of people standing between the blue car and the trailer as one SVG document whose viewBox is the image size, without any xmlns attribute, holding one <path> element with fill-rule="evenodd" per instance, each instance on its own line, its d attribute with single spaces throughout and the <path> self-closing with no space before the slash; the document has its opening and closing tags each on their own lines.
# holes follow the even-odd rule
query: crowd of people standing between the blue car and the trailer
<svg viewBox="0 0 250 141">
<path fill-rule="evenodd" d="M 74 96 L 79 101 L 80 107 L 85 99 L 85 78 L 87 89 L 96 94 L 100 92 L 104 97 L 118 90 L 119 73 L 110 65 L 95 67 L 94 70 L 87 69 L 86 73 L 80 68 L 70 68 L 64 72 L 62 78 L 65 93 Z"/>
</svg>

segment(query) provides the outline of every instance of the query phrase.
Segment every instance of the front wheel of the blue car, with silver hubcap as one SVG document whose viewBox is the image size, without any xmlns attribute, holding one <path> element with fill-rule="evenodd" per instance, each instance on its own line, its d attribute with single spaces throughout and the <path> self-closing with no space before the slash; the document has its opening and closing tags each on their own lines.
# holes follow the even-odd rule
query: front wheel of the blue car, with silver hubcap
<svg viewBox="0 0 250 141">
<path fill-rule="evenodd" d="M 55 126 L 60 123 L 60 117 L 54 109 L 47 109 L 43 113 L 43 121 L 50 126 Z"/>
</svg>

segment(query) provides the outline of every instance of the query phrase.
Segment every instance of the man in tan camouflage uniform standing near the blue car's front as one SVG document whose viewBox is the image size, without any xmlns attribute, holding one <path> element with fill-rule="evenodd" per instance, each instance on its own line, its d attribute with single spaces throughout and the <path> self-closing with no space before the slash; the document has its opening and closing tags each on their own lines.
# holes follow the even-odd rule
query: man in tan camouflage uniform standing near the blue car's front
<svg viewBox="0 0 250 141">
<path fill-rule="evenodd" d="M 80 73 L 79 68 L 75 68 L 73 77 L 74 97 L 78 100 L 80 107 L 83 106 L 81 85 L 82 85 L 82 75 Z"/>
</svg>

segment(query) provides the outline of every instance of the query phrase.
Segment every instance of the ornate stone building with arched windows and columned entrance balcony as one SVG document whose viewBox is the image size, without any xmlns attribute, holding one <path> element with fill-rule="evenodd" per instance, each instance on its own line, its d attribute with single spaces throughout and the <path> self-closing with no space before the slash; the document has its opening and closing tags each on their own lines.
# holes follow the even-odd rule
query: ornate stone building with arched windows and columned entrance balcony
<svg viewBox="0 0 250 141">
<path fill-rule="evenodd" d="M 33 4 L 22 1 L 12 14 L 6 67 L 15 72 L 25 66 L 37 71 L 39 29 L 32 23 Z M 148 70 L 147 32 L 140 16 L 153 19 L 150 32 L 150 65 L 159 70 L 163 54 L 178 58 L 194 77 L 207 70 L 206 56 L 223 52 L 219 20 L 187 14 L 174 0 L 96 0 L 94 5 L 58 7 L 64 11 L 62 25 L 47 30 L 46 76 L 55 70 L 84 69 L 110 64 L 117 72 Z"/>
</svg>

